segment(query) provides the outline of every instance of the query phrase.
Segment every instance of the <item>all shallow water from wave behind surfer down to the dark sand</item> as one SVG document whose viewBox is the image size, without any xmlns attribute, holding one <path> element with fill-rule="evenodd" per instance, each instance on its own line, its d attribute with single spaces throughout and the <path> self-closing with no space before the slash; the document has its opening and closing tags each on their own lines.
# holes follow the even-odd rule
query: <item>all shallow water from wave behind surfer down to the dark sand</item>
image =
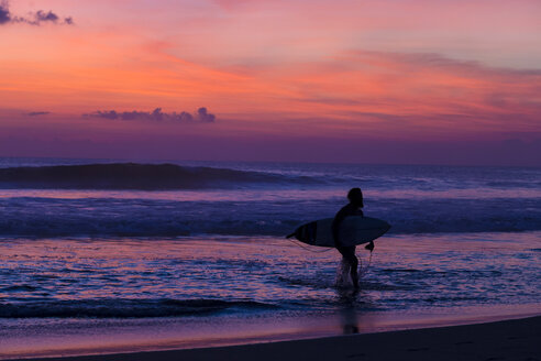
<svg viewBox="0 0 541 361">
<path fill-rule="evenodd" d="M 0 242 L 0 358 L 234 344 L 541 311 L 540 232 L 387 237 L 361 291 L 275 238 Z M 318 251 L 318 252 L 316 252 Z"/>
</svg>

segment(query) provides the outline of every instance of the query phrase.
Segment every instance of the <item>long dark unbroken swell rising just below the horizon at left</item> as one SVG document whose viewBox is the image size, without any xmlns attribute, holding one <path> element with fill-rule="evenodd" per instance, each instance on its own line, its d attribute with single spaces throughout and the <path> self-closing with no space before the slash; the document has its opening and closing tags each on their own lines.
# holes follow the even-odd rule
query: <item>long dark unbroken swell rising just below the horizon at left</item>
<svg viewBox="0 0 541 361">
<path fill-rule="evenodd" d="M 321 184 L 309 176 L 176 164 L 84 164 L 0 168 L 0 188 L 209 189 L 257 184 Z"/>
</svg>

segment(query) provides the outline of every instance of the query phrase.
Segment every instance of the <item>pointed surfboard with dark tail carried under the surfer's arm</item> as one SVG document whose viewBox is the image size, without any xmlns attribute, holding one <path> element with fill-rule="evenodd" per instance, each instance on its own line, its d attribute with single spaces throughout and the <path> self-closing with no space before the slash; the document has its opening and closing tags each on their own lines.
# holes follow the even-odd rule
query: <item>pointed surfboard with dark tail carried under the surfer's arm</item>
<svg viewBox="0 0 541 361">
<path fill-rule="evenodd" d="M 316 220 L 300 226 L 288 238 L 319 247 L 334 247 L 332 237 L 333 218 Z M 384 220 L 371 217 L 346 217 L 340 225 L 339 237 L 343 245 L 357 245 L 373 241 L 387 232 L 390 225 Z"/>
</svg>

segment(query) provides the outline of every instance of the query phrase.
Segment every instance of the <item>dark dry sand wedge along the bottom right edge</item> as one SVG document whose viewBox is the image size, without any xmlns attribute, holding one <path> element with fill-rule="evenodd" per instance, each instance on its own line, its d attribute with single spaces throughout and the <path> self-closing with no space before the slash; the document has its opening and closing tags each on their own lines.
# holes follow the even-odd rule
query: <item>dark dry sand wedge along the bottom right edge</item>
<svg viewBox="0 0 541 361">
<path fill-rule="evenodd" d="M 541 316 L 497 322 L 256 344 L 115 353 L 62 361 L 541 360 Z"/>
</svg>

